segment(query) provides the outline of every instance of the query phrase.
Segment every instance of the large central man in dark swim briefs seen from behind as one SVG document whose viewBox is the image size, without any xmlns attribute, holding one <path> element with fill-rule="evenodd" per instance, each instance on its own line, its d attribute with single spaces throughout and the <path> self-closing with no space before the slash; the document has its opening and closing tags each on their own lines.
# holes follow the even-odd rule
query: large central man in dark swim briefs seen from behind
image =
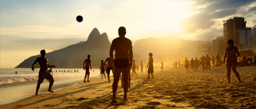
<svg viewBox="0 0 256 109">
<path fill-rule="evenodd" d="M 125 37 L 126 29 L 120 27 L 118 29 L 118 35 L 116 39 L 112 41 L 110 46 L 109 55 L 114 61 L 114 81 L 112 85 L 113 97 L 112 102 L 116 102 L 116 91 L 118 87 L 118 81 L 120 77 L 121 70 L 123 70 L 123 79 L 124 79 L 124 100 L 128 100 L 127 91 L 128 91 L 128 77 L 129 72 L 132 67 L 133 53 L 132 53 L 132 41 Z M 116 52 L 115 58 L 113 52 Z"/>
</svg>

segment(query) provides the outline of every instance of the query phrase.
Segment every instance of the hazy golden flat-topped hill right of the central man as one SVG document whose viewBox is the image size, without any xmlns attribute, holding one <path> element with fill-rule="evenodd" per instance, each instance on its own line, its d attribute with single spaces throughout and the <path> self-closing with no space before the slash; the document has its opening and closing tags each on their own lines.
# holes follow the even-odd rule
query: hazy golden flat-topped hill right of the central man
<svg viewBox="0 0 256 109">
<path fill-rule="evenodd" d="M 180 61 L 195 58 L 195 45 L 210 43 L 210 41 L 189 41 L 178 39 L 172 36 L 165 36 L 159 38 L 140 39 L 135 42 L 133 46 L 134 60 L 143 61 L 144 64 L 148 62 L 148 53 L 153 53 L 154 62 L 164 61 L 178 61 L 174 58 L 174 51 L 182 52 Z M 178 56 L 177 56 L 178 57 Z M 199 57 L 197 57 L 199 58 Z M 145 63 L 146 62 L 146 63 Z"/>
</svg>

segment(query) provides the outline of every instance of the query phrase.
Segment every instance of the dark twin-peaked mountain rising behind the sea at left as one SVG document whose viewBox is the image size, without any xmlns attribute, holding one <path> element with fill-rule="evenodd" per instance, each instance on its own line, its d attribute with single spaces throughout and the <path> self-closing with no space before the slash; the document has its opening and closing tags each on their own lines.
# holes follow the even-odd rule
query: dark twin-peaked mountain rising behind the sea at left
<svg viewBox="0 0 256 109">
<path fill-rule="evenodd" d="M 46 53 L 50 65 L 57 68 L 83 68 L 87 55 L 91 55 L 92 67 L 98 68 L 101 60 L 109 57 L 110 42 L 106 33 L 100 34 L 97 28 L 91 31 L 87 41 L 70 45 L 66 48 Z M 38 50 L 38 53 L 41 51 Z M 46 51 L 47 52 L 47 51 Z M 33 62 L 41 55 L 31 56 L 15 68 L 31 68 Z M 39 64 L 35 66 L 39 68 Z"/>
</svg>

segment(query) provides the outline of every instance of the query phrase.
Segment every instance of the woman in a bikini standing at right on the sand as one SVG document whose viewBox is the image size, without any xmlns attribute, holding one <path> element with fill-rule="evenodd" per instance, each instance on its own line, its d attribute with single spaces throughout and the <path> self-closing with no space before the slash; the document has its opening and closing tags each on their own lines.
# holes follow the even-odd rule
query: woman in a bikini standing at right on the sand
<svg viewBox="0 0 256 109">
<path fill-rule="evenodd" d="M 225 56 L 223 59 L 223 64 L 225 64 L 225 62 L 226 62 L 225 59 L 227 57 L 227 80 L 230 83 L 230 72 L 231 72 L 231 68 L 232 68 L 233 72 L 236 74 L 236 76 L 238 78 L 238 81 L 242 82 L 240 79 L 240 75 L 236 70 L 237 57 L 240 56 L 238 48 L 236 46 L 234 46 L 233 40 L 227 40 L 227 45 L 229 45 L 229 47 L 226 48 Z"/>
</svg>

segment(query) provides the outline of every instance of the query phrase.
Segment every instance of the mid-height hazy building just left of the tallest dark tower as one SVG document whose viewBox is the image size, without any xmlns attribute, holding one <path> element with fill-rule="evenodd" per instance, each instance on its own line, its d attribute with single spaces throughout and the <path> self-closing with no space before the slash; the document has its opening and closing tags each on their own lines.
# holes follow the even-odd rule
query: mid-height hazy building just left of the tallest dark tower
<svg viewBox="0 0 256 109">
<path fill-rule="evenodd" d="M 223 55 L 223 39 L 224 37 L 216 37 L 212 40 L 212 55 L 216 56 L 218 53 Z"/>
</svg>

